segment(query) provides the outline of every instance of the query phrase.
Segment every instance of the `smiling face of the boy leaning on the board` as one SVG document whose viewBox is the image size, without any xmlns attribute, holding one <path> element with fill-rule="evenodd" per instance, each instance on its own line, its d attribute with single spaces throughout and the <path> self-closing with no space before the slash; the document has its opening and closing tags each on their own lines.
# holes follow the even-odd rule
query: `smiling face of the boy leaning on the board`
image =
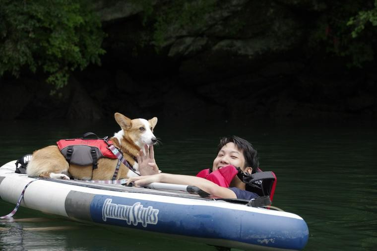
<svg viewBox="0 0 377 251">
<path fill-rule="evenodd" d="M 221 148 L 216 158 L 213 160 L 212 171 L 219 170 L 228 165 L 241 167 L 241 169 L 245 171 L 244 154 L 237 149 L 237 146 L 233 142 L 229 142 Z"/>
</svg>

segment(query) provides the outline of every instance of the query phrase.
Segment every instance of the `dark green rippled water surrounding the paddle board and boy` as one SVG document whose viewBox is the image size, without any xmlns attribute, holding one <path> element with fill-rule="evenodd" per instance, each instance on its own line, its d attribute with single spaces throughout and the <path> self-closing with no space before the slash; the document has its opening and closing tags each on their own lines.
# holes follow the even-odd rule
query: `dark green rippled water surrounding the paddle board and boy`
<svg viewBox="0 0 377 251">
<path fill-rule="evenodd" d="M 113 121 L 86 124 L 3 122 L 0 163 L 4 164 L 61 138 L 87 131 L 99 136 L 118 131 Z M 377 130 L 374 125 L 163 123 L 155 134 L 156 161 L 164 172 L 194 175 L 211 167 L 220 136 L 250 140 L 260 167 L 274 171 L 273 205 L 300 215 L 310 237 L 305 250 L 377 249 Z M 0 200 L 0 215 L 14 205 Z M 1 250 L 215 250 L 185 239 L 149 232 L 86 225 L 20 208 L 0 221 Z"/>
</svg>

